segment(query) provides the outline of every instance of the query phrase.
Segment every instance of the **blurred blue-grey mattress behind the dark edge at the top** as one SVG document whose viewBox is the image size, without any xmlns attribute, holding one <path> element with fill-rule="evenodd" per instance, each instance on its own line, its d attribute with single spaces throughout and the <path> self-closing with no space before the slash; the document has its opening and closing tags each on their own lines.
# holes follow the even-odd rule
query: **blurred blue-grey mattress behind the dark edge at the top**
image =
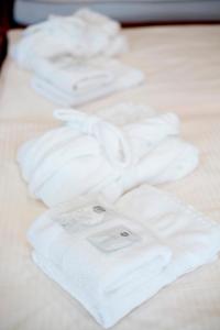
<svg viewBox="0 0 220 330">
<path fill-rule="evenodd" d="M 22 24 L 67 15 L 89 7 L 121 22 L 219 21 L 219 0 L 15 0 L 14 19 Z"/>
</svg>

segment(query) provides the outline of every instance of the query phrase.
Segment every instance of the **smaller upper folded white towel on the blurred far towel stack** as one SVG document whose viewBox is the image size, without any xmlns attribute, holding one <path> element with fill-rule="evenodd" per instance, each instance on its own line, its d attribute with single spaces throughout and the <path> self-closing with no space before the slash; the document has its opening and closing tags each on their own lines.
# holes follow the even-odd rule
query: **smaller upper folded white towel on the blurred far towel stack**
<svg viewBox="0 0 220 330">
<path fill-rule="evenodd" d="M 38 61 L 34 73 L 38 78 L 57 87 L 58 90 L 80 96 L 108 85 L 114 79 L 111 63 L 108 58 L 85 62 L 69 55 L 59 55 Z"/>
</svg>

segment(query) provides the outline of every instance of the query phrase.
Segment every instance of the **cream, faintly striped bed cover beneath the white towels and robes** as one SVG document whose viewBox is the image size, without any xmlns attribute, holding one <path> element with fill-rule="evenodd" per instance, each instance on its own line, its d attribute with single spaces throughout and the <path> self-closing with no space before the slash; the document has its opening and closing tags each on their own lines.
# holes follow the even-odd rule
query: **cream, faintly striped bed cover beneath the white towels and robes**
<svg viewBox="0 0 220 330">
<path fill-rule="evenodd" d="M 80 107 L 92 112 L 118 101 L 175 111 L 183 134 L 200 150 L 188 177 L 162 186 L 220 222 L 220 26 L 125 30 L 125 63 L 146 85 Z M 10 44 L 20 31 L 9 33 Z M 87 311 L 31 261 L 26 230 L 45 207 L 33 200 L 15 163 L 18 146 L 56 125 L 54 105 L 30 88 L 30 74 L 8 57 L 0 77 L 0 329 L 99 330 Z M 220 260 L 190 273 L 136 308 L 116 330 L 219 330 Z"/>
</svg>

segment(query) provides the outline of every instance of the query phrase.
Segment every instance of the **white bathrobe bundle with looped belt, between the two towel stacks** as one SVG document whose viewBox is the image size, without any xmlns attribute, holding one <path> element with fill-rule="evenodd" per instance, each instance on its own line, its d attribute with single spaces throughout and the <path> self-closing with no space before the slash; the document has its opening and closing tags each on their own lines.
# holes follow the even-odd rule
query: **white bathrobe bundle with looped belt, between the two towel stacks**
<svg viewBox="0 0 220 330">
<path fill-rule="evenodd" d="M 174 113 L 150 113 L 152 109 L 125 103 L 99 116 L 55 111 L 66 124 L 26 142 L 18 153 L 32 196 L 47 206 L 91 193 L 116 201 L 140 184 L 186 176 L 198 164 L 197 148 L 179 138 Z"/>
</svg>

